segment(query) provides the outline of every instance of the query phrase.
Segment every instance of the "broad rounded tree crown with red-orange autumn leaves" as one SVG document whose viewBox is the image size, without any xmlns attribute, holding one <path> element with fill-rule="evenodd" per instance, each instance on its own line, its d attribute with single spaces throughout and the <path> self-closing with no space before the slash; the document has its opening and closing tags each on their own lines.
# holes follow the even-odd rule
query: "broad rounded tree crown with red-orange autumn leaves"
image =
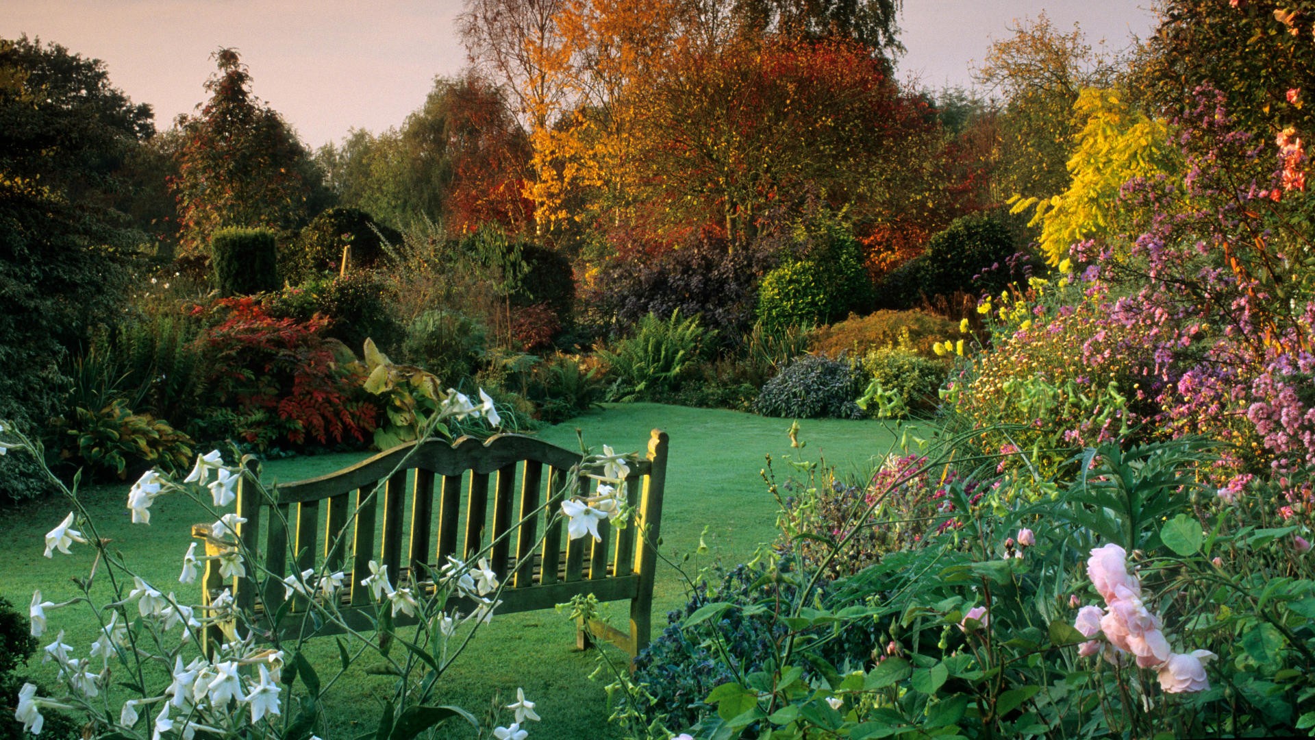
<svg viewBox="0 0 1315 740">
<path fill-rule="evenodd" d="M 714 223 L 734 244 L 769 212 L 821 198 L 881 209 L 935 116 L 889 65 L 843 40 L 769 38 L 673 59 L 644 117 L 644 198 L 668 225 Z"/>
</svg>

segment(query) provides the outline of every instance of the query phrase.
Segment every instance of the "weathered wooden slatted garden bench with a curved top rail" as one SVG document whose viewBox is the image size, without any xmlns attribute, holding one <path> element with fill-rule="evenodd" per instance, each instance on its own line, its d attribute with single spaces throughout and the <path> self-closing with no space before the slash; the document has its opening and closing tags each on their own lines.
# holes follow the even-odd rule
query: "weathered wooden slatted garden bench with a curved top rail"
<svg viewBox="0 0 1315 740">
<path fill-rule="evenodd" d="M 254 629 L 266 641 L 275 633 L 280 639 L 330 635 L 341 628 L 308 615 L 308 596 L 293 594 L 287 603 L 280 581 L 312 568 L 342 570 L 338 608 L 343 620 L 352 629 L 371 629 L 375 607 L 370 589 L 360 583 L 370 574 L 370 561 L 388 566 L 389 578 L 400 585 L 410 574 L 427 579 L 448 556 L 473 565 L 484 552 L 504 583 L 494 614 L 550 608 L 585 594 L 600 602 L 629 599 L 629 633 L 601 623 L 589 627 L 634 657 L 648 644 L 651 631 L 667 444 L 667 433 L 654 429 L 647 457 L 630 465 L 625 485 L 635 520 L 626 528 L 610 528 L 604 520 L 601 541 L 565 539 L 564 520 L 555 516 L 569 495 L 588 495 L 588 474 L 597 471 L 577 469 L 580 453 L 519 435 L 497 435 L 484 442 L 429 440 L 418 449 L 412 442 L 329 475 L 279 485 L 268 494 L 274 500 L 243 479 L 237 515 L 246 523 L 238 524 L 237 536 L 258 560 L 247 562 L 246 570 L 259 573 L 262 585 L 251 578 L 225 579 L 218 562 L 208 560 L 203 603 L 229 589 L 237 607 L 255 615 Z M 197 524 L 192 533 L 205 540 L 206 554 L 231 548 L 212 539 L 208 524 Z M 473 608 L 468 600 L 450 599 L 448 612 L 454 603 L 463 614 Z M 414 621 L 398 615 L 394 623 Z M 233 625 L 225 627 L 231 633 Z M 217 639 L 222 629 L 210 631 L 204 643 Z M 577 644 L 585 647 L 583 629 Z M 208 645 L 203 648 L 209 652 Z"/>
</svg>

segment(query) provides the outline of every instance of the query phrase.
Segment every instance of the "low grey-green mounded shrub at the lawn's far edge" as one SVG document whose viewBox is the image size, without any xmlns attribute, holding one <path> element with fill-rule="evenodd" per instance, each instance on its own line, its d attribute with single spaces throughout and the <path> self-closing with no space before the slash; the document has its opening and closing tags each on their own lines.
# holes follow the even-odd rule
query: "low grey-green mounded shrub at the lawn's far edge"
<svg viewBox="0 0 1315 740">
<path fill-rule="evenodd" d="M 867 379 L 846 359 L 805 354 L 763 386 L 753 411 L 794 419 L 863 419 L 855 403 Z"/>
</svg>

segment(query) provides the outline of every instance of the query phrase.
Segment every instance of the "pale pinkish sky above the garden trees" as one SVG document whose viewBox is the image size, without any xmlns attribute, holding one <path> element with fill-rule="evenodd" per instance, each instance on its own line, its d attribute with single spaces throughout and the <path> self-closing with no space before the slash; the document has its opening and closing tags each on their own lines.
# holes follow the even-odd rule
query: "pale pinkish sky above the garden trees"
<svg viewBox="0 0 1315 740">
<path fill-rule="evenodd" d="M 1044 9 L 1056 28 L 1124 46 L 1155 28 L 1152 0 L 905 0 L 901 79 L 970 86 L 970 65 L 1015 18 Z M 454 30 L 463 0 L 4 0 L 0 37 L 26 33 L 105 62 L 110 82 L 168 128 L 205 100 L 209 59 L 235 47 L 252 92 L 317 147 L 351 128 L 401 125 L 435 75 L 466 65 Z"/>
</svg>

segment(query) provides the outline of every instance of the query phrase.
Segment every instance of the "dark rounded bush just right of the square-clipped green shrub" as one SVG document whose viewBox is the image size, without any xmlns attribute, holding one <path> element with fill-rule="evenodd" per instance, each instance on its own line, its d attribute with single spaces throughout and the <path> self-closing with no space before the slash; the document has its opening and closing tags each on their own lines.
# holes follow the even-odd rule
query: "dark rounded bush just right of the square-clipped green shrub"
<svg viewBox="0 0 1315 740">
<path fill-rule="evenodd" d="M 373 267 L 383 244 L 401 242 L 401 232 L 379 224 L 358 208 L 330 208 L 310 220 L 279 253 L 284 279 L 296 284 L 325 274 L 339 274 L 342 250 L 350 246 L 347 274 Z M 350 345 L 356 346 L 356 345 Z"/>
</svg>

